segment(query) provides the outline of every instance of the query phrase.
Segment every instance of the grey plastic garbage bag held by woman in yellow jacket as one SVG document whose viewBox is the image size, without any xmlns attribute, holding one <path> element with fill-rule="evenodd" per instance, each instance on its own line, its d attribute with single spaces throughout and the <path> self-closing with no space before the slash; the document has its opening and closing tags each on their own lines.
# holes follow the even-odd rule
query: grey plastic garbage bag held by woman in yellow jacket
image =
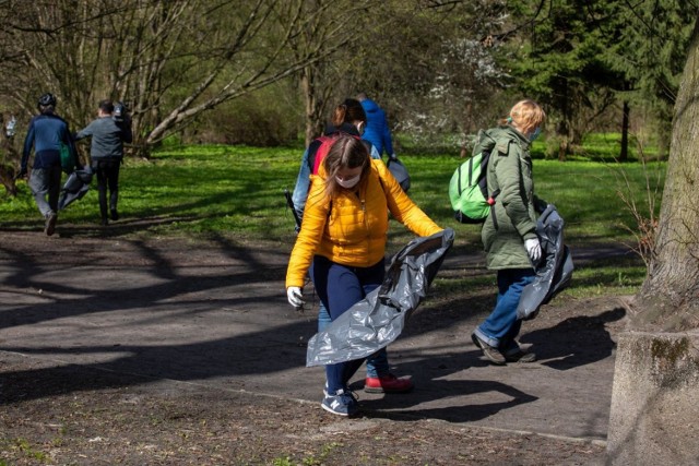
<svg viewBox="0 0 699 466">
<path fill-rule="evenodd" d="M 380 287 L 308 340 L 306 366 L 366 358 L 398 338 L 453 240 L 447 228 L 411 241 L 393 256 Z"/>
</svg>

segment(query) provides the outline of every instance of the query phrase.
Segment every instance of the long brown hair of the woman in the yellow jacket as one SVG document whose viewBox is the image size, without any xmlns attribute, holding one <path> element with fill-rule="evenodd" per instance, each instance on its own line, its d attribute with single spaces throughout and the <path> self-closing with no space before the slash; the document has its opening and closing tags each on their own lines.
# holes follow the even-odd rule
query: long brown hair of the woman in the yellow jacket
<svg viewBox="0 0 699 466">
<path fill-rule="evenodd" d="M 359 180 L 359 183 L 362 183 L 369 171 L 369 166 L 370 156 L 367 146 L 357 138 L 346 134 L 340 135 L 323 159 L 323 168 L 327 174 L 325 195 L 332 196 L 332 194 L 344 189 L 335 179 L 340 170 L 362 167 L 362 179 Z"/>
</svg>

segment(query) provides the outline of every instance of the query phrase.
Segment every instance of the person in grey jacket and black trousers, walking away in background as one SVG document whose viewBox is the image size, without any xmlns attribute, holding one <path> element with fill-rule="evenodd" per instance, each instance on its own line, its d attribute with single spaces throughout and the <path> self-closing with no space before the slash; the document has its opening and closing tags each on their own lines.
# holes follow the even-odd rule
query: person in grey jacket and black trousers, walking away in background
<svg viewBox="0 0 699 466">
<path fill-rule="evenodd" d="M 75 141 L 92 136 L 90 157 L 92 169 L 97 174 L 97 191 L 99 198 L 99 214 L 102 225 L 109 224 L 107 219 L 107 189 L 109 190 L 109 214 L 112 220 L 119 219 L 117 203 L 119 201 L 119 167 L 123 159 L 123 143 L 133 139 L 131 122 L 128 118 L 118 122 L 115 120 L 111 100 L 102 100 L 97 107 L 97 119 L 78 131 Z"/>
</svg>

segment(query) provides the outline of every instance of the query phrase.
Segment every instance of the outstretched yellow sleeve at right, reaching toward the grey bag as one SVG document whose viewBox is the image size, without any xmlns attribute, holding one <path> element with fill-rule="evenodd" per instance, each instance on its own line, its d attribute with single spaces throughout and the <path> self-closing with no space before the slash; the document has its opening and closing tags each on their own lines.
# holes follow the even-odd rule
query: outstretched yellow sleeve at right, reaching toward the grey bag
<svg viewBox="0 0 699 466">
<path fill-rule="evenodd" d="M 376 164 L 376 167 L 393 218 L 417 236 L 430 236 L 443 229 L 405 194 L 386 165 Z"/>
</svg>

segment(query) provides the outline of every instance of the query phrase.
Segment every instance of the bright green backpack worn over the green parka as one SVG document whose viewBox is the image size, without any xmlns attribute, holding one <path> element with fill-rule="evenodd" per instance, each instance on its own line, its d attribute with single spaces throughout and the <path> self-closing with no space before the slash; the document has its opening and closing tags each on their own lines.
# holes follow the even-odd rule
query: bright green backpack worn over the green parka
<svg viewBox="0 0 699 466">
<path fill-rule="evenodd" d="M 462 224 L 482 224 L 495 204 L 497 190 L 488 194 L 487 167 L 489 152 L 476 154 L 457 168 L 449 182 L 449 199 L 454 218 Z"/>
</svg>

